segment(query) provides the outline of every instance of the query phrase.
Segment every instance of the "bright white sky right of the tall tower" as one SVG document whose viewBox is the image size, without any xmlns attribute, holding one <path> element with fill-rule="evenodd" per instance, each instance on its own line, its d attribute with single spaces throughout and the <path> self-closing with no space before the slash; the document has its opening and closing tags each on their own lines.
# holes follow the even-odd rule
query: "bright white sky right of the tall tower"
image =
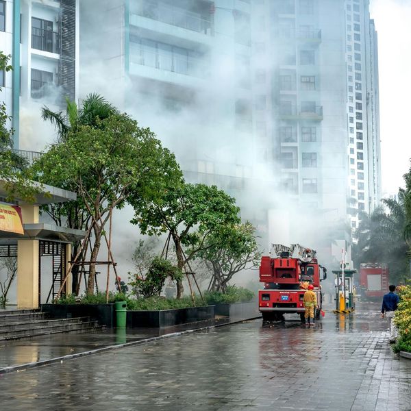
<svg viewBox="0 0 411 411">
<path fill-rule="evenodd" d="M 378 33 L 382 190 L 395 194 L 411 158 L 411 0 L 371 0 Z"/>
</svg>

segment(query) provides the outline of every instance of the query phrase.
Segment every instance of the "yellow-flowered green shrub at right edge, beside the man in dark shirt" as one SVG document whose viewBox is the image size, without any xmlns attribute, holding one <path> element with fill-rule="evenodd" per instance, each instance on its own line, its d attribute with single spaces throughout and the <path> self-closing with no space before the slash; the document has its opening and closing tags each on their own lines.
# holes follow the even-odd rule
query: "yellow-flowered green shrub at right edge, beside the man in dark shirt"
<svg viewBox="0 0 411 411">
<path fill-rule="evenodd" d="M 401 346 L 398 351 L 411 352 L 411 286 L 409 285 L 399 287 L 399 304 L 394 321 L 400 336 L 395 349 Z"/>
</svg>

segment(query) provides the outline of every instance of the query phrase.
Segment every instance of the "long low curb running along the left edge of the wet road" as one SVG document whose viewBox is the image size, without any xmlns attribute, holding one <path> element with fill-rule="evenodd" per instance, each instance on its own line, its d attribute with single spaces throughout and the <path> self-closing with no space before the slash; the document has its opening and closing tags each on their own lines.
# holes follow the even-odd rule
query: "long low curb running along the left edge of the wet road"
<svg viewBox="0 0 411 411">
<path fill-rule="evenodd" d="M 0 375 L 6 374 L 6 373 L 12 373 L 12 372 L 15 372 L 15 371 L 25 371 L 27 369 L 32 369 L 32 368 L 36 368 L 36 367 L 40 367 L 40 366 L 55 364 L 57 362 L 64 362 L 64 361 L 67 361 L 67 360 L 75 360 L 76 358 L 81 358 L 81 357 L 86 357 L 86 356 L 94 356 L 95 354 L 103 353 L 105 351 L 111 351 L 113 349 L 121 349 L 121 348 L 132 347 L 134 345 L 143 345 L 143 344 L 147 344 L 147 343 L 153 343 L 154 341 L 164 340 L 166 338 L 184 336 L 186 334 L 201 332 L 201 331 L 205 331 L 207 329 L 224 327 L 225 325 L 234 325 L 234 324 L 238 324 L 238 323 L 243 323 L 244 321 L 256 320 L 256 319 L 260 319 L 260 318 L 262 318 L 262 317 L 257 316 L 257 317 L 252 317 L 251 319 L 242 319 L 242 320 L 232 321 L 232 322 L 224 323 L 224 324 L 210 325 L 208 327 L 186 329 L 184 331 L 172 332 L 170 334 L 164 334 L 163 336 L 145 338 L 144 340 L 132 341 L 130 343 L 124 343 L 124 344 L 108 345 L 108 347 L 101 347 L 101 348 L 97 348 L 97 349 L 92 349 L 90 351 L 83 351 L 82 353 L 68 354 L 67 356 L 50 358 L 49 360 L 34 361 L 34 362 L 27 362 L 26 364 L 5 366 L 3 368 L 0 368 Z"/>
</svg>

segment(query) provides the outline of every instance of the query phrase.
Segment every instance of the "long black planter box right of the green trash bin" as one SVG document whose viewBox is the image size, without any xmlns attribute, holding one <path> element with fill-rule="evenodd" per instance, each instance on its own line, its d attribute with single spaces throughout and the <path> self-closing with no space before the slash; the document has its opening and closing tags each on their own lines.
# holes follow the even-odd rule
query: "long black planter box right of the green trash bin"
<svg viewBox="0 0 411 411">
<path fill-rule="evenodd" d="M 214 306 L 127 311 L 127 327 L 170 327 L 214 319 Z"/>
</svg>

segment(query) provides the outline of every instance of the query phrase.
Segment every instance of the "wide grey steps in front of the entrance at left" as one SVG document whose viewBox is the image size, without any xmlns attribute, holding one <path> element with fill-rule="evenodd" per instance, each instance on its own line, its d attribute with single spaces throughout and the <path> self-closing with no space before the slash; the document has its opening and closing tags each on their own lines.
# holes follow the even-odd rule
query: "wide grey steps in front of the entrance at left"
<svg viewBox="0 0 411 411">
<path fill-rule="evenodd" d="M 71 319 L 49 319 L 38 310 L 0 311 L 0 341 L 44 336 L 63 332 L 90 332 L 102 327 L 88 316 Z"/>
</svg>

